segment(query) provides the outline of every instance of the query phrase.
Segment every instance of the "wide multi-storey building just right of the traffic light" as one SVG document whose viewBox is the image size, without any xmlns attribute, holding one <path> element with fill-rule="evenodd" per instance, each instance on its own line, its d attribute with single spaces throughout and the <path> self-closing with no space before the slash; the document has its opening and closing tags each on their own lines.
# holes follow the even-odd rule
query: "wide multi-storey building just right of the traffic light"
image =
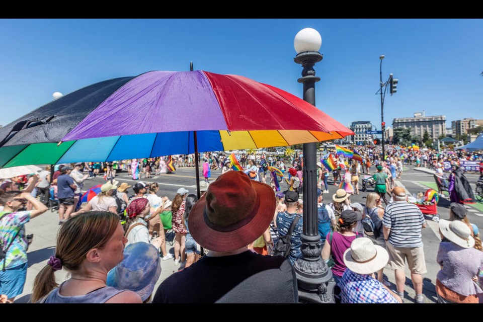
<svg viewBox="0 0 483 322">
<path fill-rule="evenodd" d="M 392 120 L 392 128 L 409 128 L 411 135 L 419 135 L 421 138 L 424 132 L 428 131 L 429 137 L 437 139 L 446 131 L 446 116 L 426 116 L 423 112 L 413 114 L 413 117 L 402 117 Z"/>
</svg>

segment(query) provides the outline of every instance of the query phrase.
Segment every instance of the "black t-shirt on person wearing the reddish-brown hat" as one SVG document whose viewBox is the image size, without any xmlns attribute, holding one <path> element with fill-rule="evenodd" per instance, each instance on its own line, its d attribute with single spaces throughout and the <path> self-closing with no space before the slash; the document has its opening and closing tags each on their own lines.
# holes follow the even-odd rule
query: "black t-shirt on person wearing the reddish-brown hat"
<svg viewBox="0 0 483 322">
<path fill-rule="evenodd" d="M 168 277 L 152 303 L 296 303 L 297 279 L 281 256 L 247 251 L 223 257 L 204 256 Z"/>
</svg>

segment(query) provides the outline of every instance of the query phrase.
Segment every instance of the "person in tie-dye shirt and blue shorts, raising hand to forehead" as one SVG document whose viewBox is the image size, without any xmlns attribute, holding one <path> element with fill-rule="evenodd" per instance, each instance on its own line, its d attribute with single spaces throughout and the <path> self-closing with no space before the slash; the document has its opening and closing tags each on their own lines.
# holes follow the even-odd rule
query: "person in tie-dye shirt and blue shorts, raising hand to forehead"
<svg viewBox="0 0 483 322">
<path fill-rule="evenodd" d="M 22 211 L 27 202 L 34 210 Z M 0 194 L 0 249 L 5 257 L 0 259 L 0 294 L 8 300 L 22 294 L 27 276 L 28 242 L 25 224 L 47 211 L 47 207 L 28 192 L 9 191 Z"/>
</svg>

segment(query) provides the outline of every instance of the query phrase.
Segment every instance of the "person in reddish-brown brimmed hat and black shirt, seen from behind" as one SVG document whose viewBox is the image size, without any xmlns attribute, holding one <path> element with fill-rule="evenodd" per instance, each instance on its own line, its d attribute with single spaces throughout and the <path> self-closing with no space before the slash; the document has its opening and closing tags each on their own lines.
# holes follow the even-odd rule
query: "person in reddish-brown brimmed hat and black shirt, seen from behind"
<svg viewBox="0 0 483 322">
<path fill-rule="evenodd" d="M 275 194 L 241 171 L 212 182 L 193 206 L 188 226 L 210 252 L 159 285 L 153 303 L 295 303 L 297 280 L 281 256 L 263 256 L 247 245 L 268 228 Z"/>
</svg>

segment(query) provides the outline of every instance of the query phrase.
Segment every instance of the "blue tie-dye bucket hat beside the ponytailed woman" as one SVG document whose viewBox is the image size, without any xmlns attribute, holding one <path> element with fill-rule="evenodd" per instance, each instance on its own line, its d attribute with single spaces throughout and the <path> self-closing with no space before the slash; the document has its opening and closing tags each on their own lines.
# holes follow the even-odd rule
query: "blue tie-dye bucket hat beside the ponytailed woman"
<svg viewBox="0 0 483 322">
<path fill-rule="evenodd" d="M 106 284 L 134 291 L 145 301 L 152 294 L 160 274 L 157 249 L 140 241 L 124 249 L 124 259 L 109 271 Z"/>
</svg>

